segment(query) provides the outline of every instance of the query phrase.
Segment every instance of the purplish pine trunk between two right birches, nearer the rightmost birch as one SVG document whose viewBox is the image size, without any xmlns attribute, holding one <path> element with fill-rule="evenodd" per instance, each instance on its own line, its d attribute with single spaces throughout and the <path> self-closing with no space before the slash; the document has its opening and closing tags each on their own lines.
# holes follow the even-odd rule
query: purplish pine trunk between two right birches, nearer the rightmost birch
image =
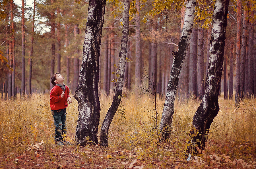
<svg viewBox="0 0 256 169">
<path fill-rule="evenodd" d="M 198 29 L 198 57 L 197 57 L 197 97 L 202 100 L 204 94 L 204 49 L 205 39 L 203 29 Z"/>
</svg>

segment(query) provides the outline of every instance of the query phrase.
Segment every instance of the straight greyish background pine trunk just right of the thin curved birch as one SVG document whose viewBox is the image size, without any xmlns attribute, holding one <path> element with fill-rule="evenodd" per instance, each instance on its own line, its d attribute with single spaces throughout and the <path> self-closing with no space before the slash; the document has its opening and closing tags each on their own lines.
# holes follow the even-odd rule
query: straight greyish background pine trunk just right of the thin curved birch
<svg viewBox="0 0 256 169">
<path fill-rule="evenodd" d="M 135 18 L 135 89 L 141 86 L 141 19 L 140 19 L 140 2 L 136 0 L 137 18 Z M 136 92 L 138 93 L 138 92 Z"/>
</svg>

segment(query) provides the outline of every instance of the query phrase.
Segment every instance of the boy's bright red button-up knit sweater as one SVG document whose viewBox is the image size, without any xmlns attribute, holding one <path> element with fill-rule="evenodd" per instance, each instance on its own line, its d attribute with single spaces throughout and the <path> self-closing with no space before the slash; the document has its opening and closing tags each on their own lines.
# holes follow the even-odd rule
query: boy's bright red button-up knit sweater
<svg viewBox="0 0 256 169">
<path fill-rule="evenodd" d="M 65 109 L 67 105 L 67 98 L 69 97 L 69 88 L 66 86 L 64 97 L 61 98 L 63 90 L 59 86 L 54 86 L 50 93 L 50 107 L 51 110 Z"/>
</svg>

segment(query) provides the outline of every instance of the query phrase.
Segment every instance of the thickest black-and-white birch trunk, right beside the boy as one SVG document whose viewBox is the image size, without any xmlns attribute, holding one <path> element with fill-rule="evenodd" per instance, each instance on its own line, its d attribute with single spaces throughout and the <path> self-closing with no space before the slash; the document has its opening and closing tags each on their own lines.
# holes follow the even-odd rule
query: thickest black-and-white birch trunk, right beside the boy
<svg viewBox="0 0 256 169">
<path fill-rule="evenodd" d="M 106 0 L 90 0 L 83 45 L 79 84 L 75 92 L 78 101 L 76 144 L 98 143 L 100 100 L 98 95 L 99 57 Z"/>
</svg>

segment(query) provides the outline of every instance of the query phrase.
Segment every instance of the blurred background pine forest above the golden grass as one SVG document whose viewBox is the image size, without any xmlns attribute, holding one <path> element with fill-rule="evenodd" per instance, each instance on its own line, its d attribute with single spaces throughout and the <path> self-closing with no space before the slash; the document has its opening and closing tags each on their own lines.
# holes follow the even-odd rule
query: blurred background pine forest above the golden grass
<svg viewBox="0 0 256 169">
<path fill-rule="evenodd" d="M 114 64 L 119 62 L 123 9 L 115 5 L 117 2 L 106 2 L 102 30 L 99 89 L 106 95 L 113 95 L 111 81 L 115 74 L 111 72 L 116 71 Z M 0 90 L 5 99 L 23 90 L 27 95 L 48 92 L 52 87 L 49 78 L 57 71 L 65 76 L 71 93 L 78 85 L 88 1 L 36 0 L 35 3 L 34 20 L 34 1 L 24 1 L 24 7 L 18 0 L 1 3 Z M 214 6 L 211 3 L 197 1 L 191 43 L 179 78 L 179 98 L 202 98 Z M 150 87 L 143 76 L 146 73 L 154 79 L 157 92 L 166 93 L 173 62 L 171 52 L 177 51 L 184 10 L 185 1 L 130 1 L 133 17 L 127 57 L 132 62 L 126 63 L 124 94 L 137 89 L 139 92 L 139 86 Z M 255 2 L 231 1 L 228 11 L 221 91 L 225 99 L 233 99 L 236 91 L 238 103 L 243 97 L 255 95 L 256 90 L 256 48 L 252 38 L 256 34 Z"/>
</svg>

